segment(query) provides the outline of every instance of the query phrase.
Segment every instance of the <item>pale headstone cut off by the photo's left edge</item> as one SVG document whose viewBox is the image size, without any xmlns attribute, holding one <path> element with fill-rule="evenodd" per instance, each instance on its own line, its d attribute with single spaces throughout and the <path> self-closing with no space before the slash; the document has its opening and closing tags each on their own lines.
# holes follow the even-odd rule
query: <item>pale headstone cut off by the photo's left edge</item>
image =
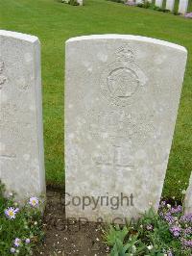
<svg viewBox="0 0 192 256">
<path fill-rule="evenodd" d="M 0 31 L 0 180 L 23 200 L 45 192 L 38 38 Z"/>
</svg>

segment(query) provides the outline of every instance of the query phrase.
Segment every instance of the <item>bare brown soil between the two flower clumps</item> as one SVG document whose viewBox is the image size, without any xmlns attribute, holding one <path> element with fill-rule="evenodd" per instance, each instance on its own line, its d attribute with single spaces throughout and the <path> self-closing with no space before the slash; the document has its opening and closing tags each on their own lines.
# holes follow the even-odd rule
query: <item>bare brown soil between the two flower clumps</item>
<svg viewBox="0 0 192 256">
<path fill-rule="evenodd" d="M 108 255 L 101 223 L 74 221 L 64 215 L 64 192 L 47 190 L 47 204 L 43 218 L 44 243 L 38 246 L 36 256 L 99 256 Z"/>
</svg>

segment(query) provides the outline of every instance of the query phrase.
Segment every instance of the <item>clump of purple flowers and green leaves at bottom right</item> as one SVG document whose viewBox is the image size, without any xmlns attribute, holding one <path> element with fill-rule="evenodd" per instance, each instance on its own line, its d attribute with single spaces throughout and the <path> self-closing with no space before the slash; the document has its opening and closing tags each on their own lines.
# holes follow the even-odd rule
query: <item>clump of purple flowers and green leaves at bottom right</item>
<svg viewBox="0 0 192 256">
<path fill-rule="evenodd" d="M 110 255 L 192 255 L 192 213 L 180 205 L 162 201 L 158 214 L 151 208 L 124 228 L 110 226 L 105 232 Z"/>
</svg>

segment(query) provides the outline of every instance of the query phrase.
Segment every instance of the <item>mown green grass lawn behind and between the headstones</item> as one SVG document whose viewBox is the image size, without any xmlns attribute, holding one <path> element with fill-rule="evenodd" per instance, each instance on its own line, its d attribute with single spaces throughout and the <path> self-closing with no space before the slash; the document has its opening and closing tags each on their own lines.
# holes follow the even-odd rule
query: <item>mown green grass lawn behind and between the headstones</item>
<svg viewBox="0 0 192 256">
<path fill-rule="evenodd" d="M 180 189 L 186 188 L 192 169 L 192 20 L 106 0 L 86 0 L 83 8 L 57 0 L 0 0 L 0 28 L 36 35 L 41 41 L 48 184 L 64 181 L 64 41 L 82 35 L 114 33 L 159 38 L 185 46 L 188 64 L 164 186 L 165 196 L 180 197 Z"/>
</svg>

